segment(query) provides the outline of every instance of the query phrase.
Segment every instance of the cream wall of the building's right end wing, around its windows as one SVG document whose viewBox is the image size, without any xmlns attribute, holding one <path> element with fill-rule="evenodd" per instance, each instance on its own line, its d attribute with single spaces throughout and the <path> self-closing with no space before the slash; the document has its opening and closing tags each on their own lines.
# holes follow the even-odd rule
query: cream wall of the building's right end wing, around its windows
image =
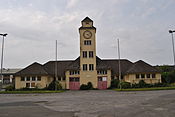
<svg viewBox="0 0 175 117">
<path fill-rule="evenodd" d="M 150 73 L 151 74 L 151 73 Z M 136 74 L 128 74 L 124 76 L 124 80 L 126 82 L 130 82 L 130 83 L 139 83 L 140 80 L 144 80 L 146 83 L 148 84 L 155 84 L 155 83 L 161 83 L 161 74 L 160 73 L 156 73 L 156 77 L 155 78 L 136 78 L 135 76 Z"/>
</svg>

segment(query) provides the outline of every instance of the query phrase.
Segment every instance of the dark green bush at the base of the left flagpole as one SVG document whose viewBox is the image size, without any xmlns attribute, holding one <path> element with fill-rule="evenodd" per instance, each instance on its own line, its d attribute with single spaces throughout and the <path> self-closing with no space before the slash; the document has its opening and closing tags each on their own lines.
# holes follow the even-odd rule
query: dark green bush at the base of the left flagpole
<svg viewBox="0 0 175 117">
<path fill-rule="evenodd" d="M 62 86 L 58 81 L 53 80 L 49 86 L 47 87 L 48 90 L 55 90 L 55 88 L 57 88 L 57 90 L 61 90 Z"/>
</svg>

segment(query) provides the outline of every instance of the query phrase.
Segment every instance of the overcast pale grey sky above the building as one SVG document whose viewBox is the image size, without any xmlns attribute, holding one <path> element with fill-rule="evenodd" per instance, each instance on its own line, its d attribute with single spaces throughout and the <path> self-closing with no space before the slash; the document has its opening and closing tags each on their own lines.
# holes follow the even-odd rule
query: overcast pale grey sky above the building
<svg viewBox="0 0 175 117">
<path fill-rule="evenodd" d="M 121 58 L 173 64 L 168 30 L 175 29 L 175 0 L 0 0 L 0 33 L 8 33 L 4 67 L 54 60 L 55 40 L 59 60 L 76 59 L 86 16 L 97 28 L 100 58 L 118 58 L 119 38 Z"/>
</svg>

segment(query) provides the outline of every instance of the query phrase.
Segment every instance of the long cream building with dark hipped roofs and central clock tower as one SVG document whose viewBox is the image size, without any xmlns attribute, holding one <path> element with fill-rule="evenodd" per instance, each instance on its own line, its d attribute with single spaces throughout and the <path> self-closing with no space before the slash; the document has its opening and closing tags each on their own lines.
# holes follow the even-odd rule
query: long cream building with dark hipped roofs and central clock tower
<svg viewBox="0 0 175 117">
<path fill-rule="evenodd" d="M 65 89 L 78 90 L 82 84 L 91 82 L 94 88 L 107 89 L 112 79 L 118 78 L 119 60 L 103 60 L 96 55 L 96 28 L 93 21 L 86 17 L 81 21 L 80 56 L 76 60 L 49 61 L 44 65 L 33 63 L 16 73 L 16 89 L 47 87 L 58 75 L 58 81 Z M 161 82 L 160 72 L 153 66 L 139 60 L 135 63 L 121 59 L 122 80 L 138 83 L 144 80 L 147 83 Z M 55 72 L 55 66 L 57 72 Z"/>
</svg>

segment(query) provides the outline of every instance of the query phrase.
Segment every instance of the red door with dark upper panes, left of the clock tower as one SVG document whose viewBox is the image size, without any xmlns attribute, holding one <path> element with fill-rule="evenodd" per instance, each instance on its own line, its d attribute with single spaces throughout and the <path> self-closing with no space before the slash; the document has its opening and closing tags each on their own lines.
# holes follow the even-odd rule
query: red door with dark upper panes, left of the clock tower
<svg viewBox="0 0 175 117">
<path fill-rule="evenodd" d="M 78 78 L 78 77 L 69 78 L 69 89 L 70 90 L 79 90 L 80 89 L 80 78 Z"/>
</svg>

